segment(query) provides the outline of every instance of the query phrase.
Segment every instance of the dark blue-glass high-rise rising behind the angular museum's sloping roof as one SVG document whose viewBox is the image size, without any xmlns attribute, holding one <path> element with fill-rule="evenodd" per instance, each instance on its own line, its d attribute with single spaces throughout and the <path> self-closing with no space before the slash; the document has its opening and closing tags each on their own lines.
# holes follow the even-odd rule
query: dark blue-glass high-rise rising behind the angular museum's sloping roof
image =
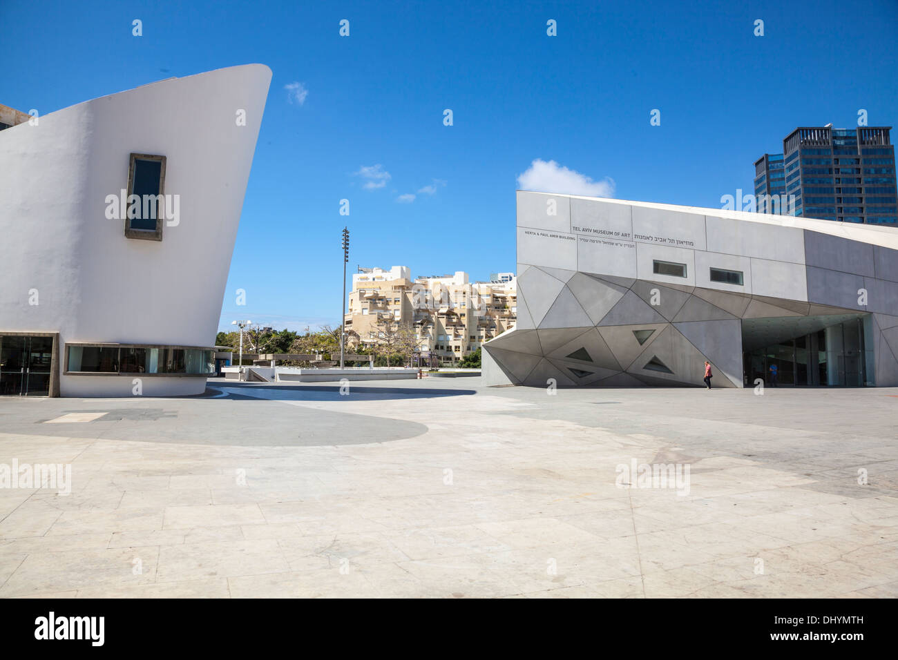
<svg viewBox="0 0 898 660">
<path fill-rule="evenodd" d="M 796 128 L 754 163 L 758 213 L 898 226 L 891 128 Z"/>
</svg>

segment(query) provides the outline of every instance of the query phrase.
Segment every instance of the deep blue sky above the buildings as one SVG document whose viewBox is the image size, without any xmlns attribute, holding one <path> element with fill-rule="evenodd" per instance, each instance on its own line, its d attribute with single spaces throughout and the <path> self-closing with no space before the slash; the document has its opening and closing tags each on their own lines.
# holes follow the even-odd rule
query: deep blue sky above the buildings
<svg viewBox="0 0 898 660">
<path fill-rule="evenodd" d="M 753 161 L 797 126 L 856 126 L 860 109 L 893 126 L 896 37 L 896 0 L 0 0 L 0 102 L 46 114 L 172 75 L 268 65 L 222 329 L 235 318 L 301 329 L 339 320 L 344 224 L 350 269 L 485 279 L 515 269 L 515 189 L 535 159 L 572 172 L 543 166 L 527 181 L 720 207 L 752 189 Z"/>
</svg>

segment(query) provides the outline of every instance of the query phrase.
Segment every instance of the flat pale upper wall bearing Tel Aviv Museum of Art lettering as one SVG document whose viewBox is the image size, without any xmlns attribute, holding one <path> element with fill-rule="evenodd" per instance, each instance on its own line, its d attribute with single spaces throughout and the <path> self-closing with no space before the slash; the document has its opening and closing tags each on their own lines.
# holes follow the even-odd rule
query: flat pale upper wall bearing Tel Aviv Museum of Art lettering
<svg viewBox="0 0 898 660">
<path fill-rule="evenodd" d="M 547 216 L 549 199 L 558 216 Z M 524 191 L 517 201 L 519 264 L 807 300 L 805 230 L 793 218 Z M 657 275 L 654 260 L 686 264 L 687 277 Z M 744 286 L 712 282 L 711 267 L 742 270 Z"/>
</svg>

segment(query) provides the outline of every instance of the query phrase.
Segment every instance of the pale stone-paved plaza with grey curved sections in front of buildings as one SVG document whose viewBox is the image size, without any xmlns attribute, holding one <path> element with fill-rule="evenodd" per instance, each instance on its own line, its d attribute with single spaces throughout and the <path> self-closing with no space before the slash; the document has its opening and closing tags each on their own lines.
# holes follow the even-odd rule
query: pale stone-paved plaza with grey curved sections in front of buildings
<svg viewBox="0 0 898 660">
<path fill-rule="evenodd" d="M 896 409 L 480 378 L 4 398 L 0 466 L 70 464 L 71 494 L 0 488 L 0 596 L 894 597 Z"/>
</svg>

